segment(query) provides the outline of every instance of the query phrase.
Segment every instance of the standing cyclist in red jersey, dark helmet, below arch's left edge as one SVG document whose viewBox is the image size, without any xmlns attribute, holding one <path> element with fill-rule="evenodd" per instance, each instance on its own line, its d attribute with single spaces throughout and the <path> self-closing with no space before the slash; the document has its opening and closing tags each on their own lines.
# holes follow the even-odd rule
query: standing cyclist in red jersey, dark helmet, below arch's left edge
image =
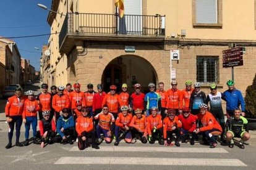
<svg viewBox="0 0 256 170">
<path fill-rule="evenodd" d="M 93 113 L 97 115 L 102 111 L 102 102 L 106 95 L 106 92 L 103 91 L 103 85 L 97 84 L 98 92 L 93 96 Z M 98 124 L 98 123 L 97 123 Z"/>
</svg>

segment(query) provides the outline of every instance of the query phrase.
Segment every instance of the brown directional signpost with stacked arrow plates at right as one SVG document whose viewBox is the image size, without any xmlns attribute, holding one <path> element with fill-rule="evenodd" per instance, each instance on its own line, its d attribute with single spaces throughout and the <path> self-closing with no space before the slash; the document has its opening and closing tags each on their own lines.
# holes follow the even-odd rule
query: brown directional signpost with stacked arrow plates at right
<svg viewBox="0 0 256 170">
<path fill-rule="evenodd" d="M 234 47 L 223 51 L 223 68 L 232 67 L 232 79 L 234 80 L 234 67 L 244 65 L 242 55 L 244 47 Z"/>
</svg>

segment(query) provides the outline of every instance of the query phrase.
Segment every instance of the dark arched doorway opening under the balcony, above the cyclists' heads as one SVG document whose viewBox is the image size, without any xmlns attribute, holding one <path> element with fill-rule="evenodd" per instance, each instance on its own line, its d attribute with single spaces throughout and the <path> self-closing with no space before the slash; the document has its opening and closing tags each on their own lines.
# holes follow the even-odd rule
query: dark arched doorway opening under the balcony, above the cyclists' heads
<svg viewBox="0 0 256 170">
<path fill-rule="evenodd" d="M 155 68 L 150 62 L 137 55 L 122 55 L 111 60 L 101 77 L 106 92 L 112 84 L 117 86 L 117 91 L 121 91 L 122 83 L 127 84 L 129 92 L 134 91 L 135 83 L 140 83 L 142 92 L 147 92 L 148 83 L 156 84 L 157 80 Z"/>
</svg>

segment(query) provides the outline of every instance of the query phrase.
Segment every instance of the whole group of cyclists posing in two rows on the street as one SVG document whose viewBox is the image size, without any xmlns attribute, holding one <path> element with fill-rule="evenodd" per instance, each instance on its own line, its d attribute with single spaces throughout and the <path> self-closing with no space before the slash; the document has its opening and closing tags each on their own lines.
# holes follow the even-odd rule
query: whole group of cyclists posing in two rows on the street
<svg viewBox="0 0 256 170">
<path fill-rule="evenodd" d="M 206 96 L 200 90 L 201 84 L 186 81 L 182 91 L 177 89 L 177 82 L 171 82 L 171 89 L 164 90 L 164 83 L 148 84 L 149 92 L 143 94 L 141 85 L 134 84 L 134 92 L 127 92 L 127 84 L 122 84 L 122 91 L 117 94 L 117 87 L 111 85 L 109 92 L 103 91 L 98 84 L 97 92 L 93 84 L 87 84 L 87 91 L 80 91 L 80 84 L 52 86 L 48 92 L 48 84 L 41 84 L 40 94 L 16 89 L 15 95 L 7 100 L 5 113 L 9 124 L 9 143 L 12 147 L 12 136 L 15 126 L 15 145 L 22 147 L 30 144 L 29 131 L 32 126 L 33 143 L 43 148 L 47 144 L 74 144 L 80 150 L 98 145 L 105 140 L 119 145 L 120 140 L 143 144 L 176 145 L 189 142 L 194 145 L 198 136 L 202 136 L 204 144 L 210 148 L 217 146 L 217 137 L 221 142 L 228 142 L 234 147 L 234 137 L 239 137 L 239 147 L 250 139 L 247 119 L 244 118 L 245 103 L 242 94 L 234 87 L 234 81 L 227 82 L 228 90 L 217 91 L 215 83 L 210 86 Z M 228 120 L 224 121 L 221 100 L 226 101 Z M 210 103 L 210 107 L 208 107 Z M 241 106 L 241 108 L 239 108 Z M 39 116 L 39 129 L 37 114 Z M 19 142 L 20 127 L 25 124 L 25 142 Z M 175 134 L 175 136 L 173 135 Z M 38 140 L 40 139 L 40 140 Z M 174 140 L 174 144 L 172 141 Z"/>
</svg>

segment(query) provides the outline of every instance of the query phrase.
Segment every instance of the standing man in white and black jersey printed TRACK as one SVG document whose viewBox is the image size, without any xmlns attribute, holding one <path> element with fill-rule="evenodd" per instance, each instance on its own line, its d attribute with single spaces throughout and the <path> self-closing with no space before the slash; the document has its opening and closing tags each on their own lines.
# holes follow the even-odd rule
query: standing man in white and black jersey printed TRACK
<svg viewBox="0 0 256 170">
<path fill-rule="evenodd" d="M 222 128 L 221 141 L 224 142 L 224 131 L 225 131 L 225 119 L 222 109 L 221 99 L 224 99 L 224 95 L 217 91 L 217 85 L 215 83 L 210 86 L 210 94 L 207 95 L 206 104 L 210 102 L 210 112 L 218 119 L 220 126 Z"/>
</svg>

